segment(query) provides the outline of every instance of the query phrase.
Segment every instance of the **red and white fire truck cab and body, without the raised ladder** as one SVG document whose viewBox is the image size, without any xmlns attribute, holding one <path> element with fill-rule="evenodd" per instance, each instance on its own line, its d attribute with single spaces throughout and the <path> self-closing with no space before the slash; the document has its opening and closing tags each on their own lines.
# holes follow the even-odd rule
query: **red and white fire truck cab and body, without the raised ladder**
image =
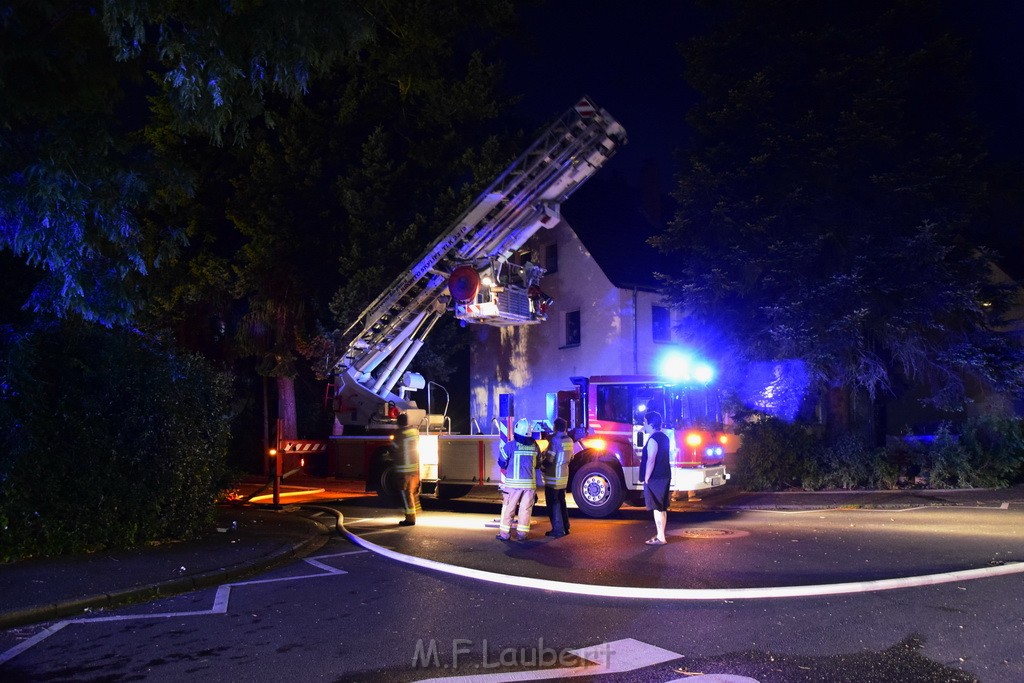
<svg viewBox="0 0 1024 683">
<path fill-rule="evenodd" d="M 607 517 L 624 503 L 643 504 L 640 459 L 643 419 L 656 411 L 669 437 L 673 492 L 699 492 L 724 484 L 725 454 L 735 436 L 724 431 L 716 387 L 707 381 L 625 375 L 570 378 L 572 389 L 556 393 L 555 417 L 571 426 L 573 454 L 569 490 L 581 512 Z M 514 418 L 508 418 L 511 423 Z M 532 420 L 542 451 L 552 431 L 547 419 Z M 508 427 L 506 427 L 506 430 Z M 507 431 L 453 434 L 427 428 L 420 434 L 420 475 L 438 498 L 454 499 L 474 486 L 502 481 L 498 455 Z M 330 440 L 331 473 L 364 479 L 368 490 L 393 496 L 391 436 L 336 436 Z"/>
</svg>

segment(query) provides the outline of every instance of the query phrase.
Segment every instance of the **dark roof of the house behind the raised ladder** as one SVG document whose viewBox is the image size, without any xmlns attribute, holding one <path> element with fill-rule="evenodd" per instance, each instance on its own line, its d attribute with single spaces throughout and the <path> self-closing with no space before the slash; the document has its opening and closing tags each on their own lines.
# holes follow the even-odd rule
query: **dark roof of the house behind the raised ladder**
<svg viewBox="0 0 1024 683">
<path fill-rule="evenodd" d="M 656 185 L 638 188 L 622 174 L 591 179 L 562 206 L 562 217 L 615 287 L 656 290 L 655 272 L 670 259 L 647 240 L 671 218 L 671 200 Z"/>
</svg>

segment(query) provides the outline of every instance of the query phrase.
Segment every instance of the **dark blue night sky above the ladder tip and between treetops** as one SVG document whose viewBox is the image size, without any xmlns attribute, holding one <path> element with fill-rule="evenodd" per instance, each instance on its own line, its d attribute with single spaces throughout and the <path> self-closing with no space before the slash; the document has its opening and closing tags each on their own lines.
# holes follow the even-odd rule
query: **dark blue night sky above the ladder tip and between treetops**
<svg viewBox="0 0 1024 683">
<path fill-rule="evenodd" d="M 948 11 L 975 57 L 979 119 L 993 156 L 1024 159 L 1024 3 L 955 0 Z M 590 95 L 629 132 L 610 168 L 636 178 L 654 160 L 671 169 L 662 171 L 667 184 L 694 97 L 676 45 L 702 31 L 701 17 L 690 0 L 548 0 L 523 12 L 537 44 L 509 53 L 509 85 L 524 93 L 523 116 L 538 125 Z"/>
</svg>

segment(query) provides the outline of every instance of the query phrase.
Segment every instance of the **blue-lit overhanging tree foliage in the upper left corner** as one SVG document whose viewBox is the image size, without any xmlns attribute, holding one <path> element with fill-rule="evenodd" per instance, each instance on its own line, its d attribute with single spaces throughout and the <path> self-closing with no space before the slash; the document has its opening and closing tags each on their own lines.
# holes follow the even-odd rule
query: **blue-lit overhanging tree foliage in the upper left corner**
<svg viewBox="0 0 1024 683">
<path fill-rule="evenodd" d="M 129 275 L 183 239 L 179 226 L 139 224 L 169 180 L 137 134 L 146 96 L 163 96 L 179 131 L 241 140 L 266 96 L 301 94 L 366 37 L 354 3 L 334 0 L 7 3 L 0 248 L 38 269 L 28 305 L 128 322 Z"/>
</svg>

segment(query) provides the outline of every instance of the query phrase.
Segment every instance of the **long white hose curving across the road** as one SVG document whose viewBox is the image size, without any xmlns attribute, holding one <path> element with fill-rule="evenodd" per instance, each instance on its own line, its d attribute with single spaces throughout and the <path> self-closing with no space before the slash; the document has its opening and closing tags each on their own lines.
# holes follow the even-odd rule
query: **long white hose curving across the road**
<svg viewBox="0 0 1024 683">
<path fill-rule="evenodd" d="M 872 593 L 876 591 L 891 591 L 902 588 L 919 588 L 937 584 L 949 584 L 957 581 L 972 581 L 991 577 L 1005 577 L 1024 573 L 1024 562 L 1008 562 L 992 567 L 980 569 L 963 569 L 943 573 L 925 574 L 923 577 L 907 577 L 903 579 L 882 579 L 877 581 L 851 582 L 846 584 L 817 584 L 811 586 L 774 586 L 765 588 L 641 588 L 636 586 L 601 586 L 593 584 L 571 584 L 550 579 L 531 579 L 503 574 L 483 569 L 472 569 L 446 564 L 436 560 L 406 555 L 375 543 L 361 539 L 341 524 L 342 532 L 357 546 L 373 551 L 378 555 L 393 559 L 404 564 L 434 569 L 444 573 L 466 579 L 475 579 L 503 586 L 518 586 L 520 588 L 554 591 L 556 593 L 571 593 L 607 598 L 635 598 L 643 600 L 755 600 L 763 598 L 802 598 L 821 595 L 846 595 L 851 593 Z"/>
</svg>

